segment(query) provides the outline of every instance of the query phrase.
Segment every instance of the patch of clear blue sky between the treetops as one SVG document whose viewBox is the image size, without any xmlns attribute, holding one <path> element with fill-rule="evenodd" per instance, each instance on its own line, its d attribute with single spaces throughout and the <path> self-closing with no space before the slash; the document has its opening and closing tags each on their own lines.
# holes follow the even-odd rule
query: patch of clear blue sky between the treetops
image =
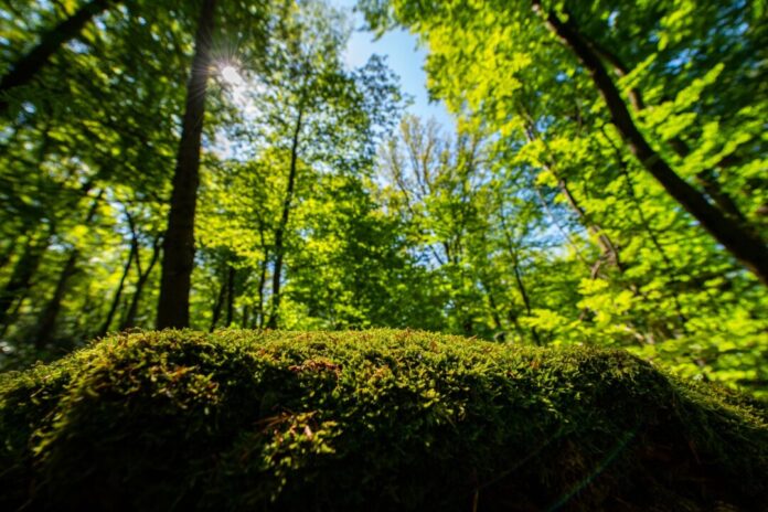
<svg viewBox="0 0 768 512">
<path fill-rule="evenodd" d="M 337 7 L 352 9 L 355 0 L 332 0 Z M 413 97 L 414 104 L 408 111 L 425 119 L 435 118 L 445 127 L 452 127 L 454 121 L 440 103 L 429 103 L 427 95 L 427 75 L 424 72 L 424 63 L 427 52 L 417 47 L 416 36 L 404 30 L 396 30 L 375 40 L 374 34 L 363 30 L 364 21 L 355 13 L 355 31 L 346 47 L 346 62 L 351 66 L 360 66 L 376 53 L 385 55 L 390 67 L 401 77 L 401 86 L 404 93 Z"/>
</svg>

